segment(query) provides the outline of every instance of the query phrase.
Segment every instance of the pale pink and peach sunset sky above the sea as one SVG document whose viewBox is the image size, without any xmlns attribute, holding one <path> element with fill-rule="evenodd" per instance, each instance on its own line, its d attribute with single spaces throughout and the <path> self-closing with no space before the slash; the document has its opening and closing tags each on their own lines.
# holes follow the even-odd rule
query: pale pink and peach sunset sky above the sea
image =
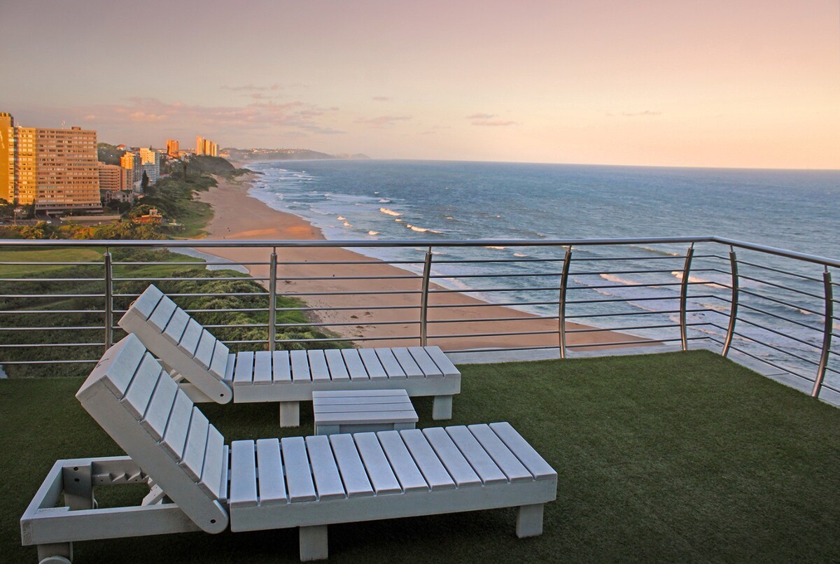
<svg viewBox="0 0 840 564">
<path fill-rule="evenodd" d="M 0 77 L 112 144 L 840 169 L 840 0 L 0 0 Z"/>
</svg>

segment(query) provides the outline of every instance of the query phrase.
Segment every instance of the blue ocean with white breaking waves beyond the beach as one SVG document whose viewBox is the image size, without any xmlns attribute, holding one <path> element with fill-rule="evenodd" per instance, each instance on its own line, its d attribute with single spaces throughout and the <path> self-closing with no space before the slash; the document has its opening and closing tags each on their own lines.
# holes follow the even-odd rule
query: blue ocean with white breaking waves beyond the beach
<svg viewBox="0 0 840 564">
<path fill-rule="evenodd" d="M 250 196 L 280 211 L 303 217 L 329 239 L 554 239 L 648 238 L 717 235 L 827 257 L 840 255 L 840 171 L 732 170 L 570 164 L 516 164 L 455 161 L 323 160 L 273 161 L 249 164 L 262 175 Z M 569 300 L 627 299 L 571 303 L 570 319 L 591 326 L 627 327 L 669 325 L 678 321 L 681 269 L 688 245 L 581 247 L 573 249 Z M 426 249 L 361 248 L 361 253 L 384 260 L 421 261 L 407 268 L 422 269 Z M 727 326 L 729 264 L 727 248 L 700 245 L 692 264 L 689 321 Z M 433 274 L 441 285 L 457 290 L 489 290 L 473 295 L 497 303 L 556 301 L 555 288 L 564 249 L 561 248 L 434 248 L 435 260 L 475 258 L 556 258 L 558 262 L 497 263 L 496 274 L 546 274 L 528 278 L 463 278 L 486 273 L 487 265 L 440 263 Z M 702 258 L 710 253 L 726 258 Z M 606 257 L 646 257 L 645 262 L 601 262 Z M 667 257 L 667 258 L 664 258 Z M 802 264 L 758 253 L 738 251 L 738 258 L 775 269 L 819 279 L 816 264 Z M 628 268 L 629 267 L 629 268 Z M 623 274 L 630 269 L 665 272 Z M 822 295 L 822 282 L 774 271 L 740 267 L 741 303 L 822 327 L 822 300 L 783 290 L 788 285 Z M 604 271 L 607 271 L 606 273 Z M 616 272 L 618 271 L 618 274 Z M 751 280 L 746 277 L 755 278 Z M 840 278 L 836 276 L 835 279 Z M 760 280 L 760 281 L 759 281 Z M 663 286 L 663 284 L 677 285 Z M 631 286 L 637 285 L 637 286 Z M 643 285 L 638 287 L 638 285 Z M 593 288 L 596 287 L 596 288 Z M 496 292 L 508 288 L 513 291 Z M 795 303 L 782 306 L 752 294 Z M 840 291 L 837 291 L 840 294 Z M 643 298 L 664 297 L 664 300 Z M 635 301 L 634 301 L 635 300 Z M 557 306 L 517 306 L 540 315 L 556 315 Z M 634 316 L 603 317 L 619 311 L 646 312 Z M 720 312 L 720 313 L 716 313 Z M 760 358 L 790 366 L 812 377 L 822 336 L 796 325 L 742 308 L 734 345 Z M 749 321 L 768 326 L 765 331 Z M 835 327 L 840 324 L 835 321 Z M 674 338 L 673 327 L 630 329 L 642 337 Z M 691 336 L 712 334 L 715 326 L 694 326 Z M 793 339 L 785 337 L 790 335 Z M 807 360 L 790 358 L 754 340 L 784 348 Z M 799 339 L 797 341 L 796 339 Z M 803 342 L 800 342 L 803 341 Z M 816 345 L 816 349 L 815 346 Z M 832 359 L 837 366 L 837 358 Z M 811 361 L 811 362 L 808 362 Z M 837 379 L 832 378 L 836 384 Z"/>
</svg>

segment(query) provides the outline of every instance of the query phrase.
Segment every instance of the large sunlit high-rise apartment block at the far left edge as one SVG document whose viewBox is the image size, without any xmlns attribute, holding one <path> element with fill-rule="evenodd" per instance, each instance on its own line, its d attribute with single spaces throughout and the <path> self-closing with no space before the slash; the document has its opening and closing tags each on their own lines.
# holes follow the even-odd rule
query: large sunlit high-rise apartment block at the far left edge
<svg viewBox="0 0 840 564">
<path fill-rule="evenodd" d="M 0 114 L 0 197 L 38 211 L 101 209 L 97 132 L 15 126 Z"/>
</svg>

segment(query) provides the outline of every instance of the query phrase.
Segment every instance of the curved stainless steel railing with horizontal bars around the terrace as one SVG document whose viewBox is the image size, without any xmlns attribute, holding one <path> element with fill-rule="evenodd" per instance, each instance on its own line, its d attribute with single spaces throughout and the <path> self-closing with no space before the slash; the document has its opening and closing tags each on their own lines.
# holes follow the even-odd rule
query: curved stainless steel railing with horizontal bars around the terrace
<svg viewBox="0 0 840 564">
<path fill-rule="evenodd" d="M 220 254 L 231 248 L 262 249 L 265 258 L 235 263 L 115 258 L 127 248 L 215 249 Z M 383 256 L 325 260 L 317 252 L 323 248 Z M 523 252 L 500 255 L 502 248 Z M 302 255 L 302 249 L 311 249 L 311 256 Z M 39 260 L 33 256 L 39 251 L 52 252 L 53 259 Z M 87 258 L 61 259 L 62 253 L 74 252 L 87 253 Z M 687 350 L 696 343 L 804 379 L 815 396 L 823 388 L 840 393 L 840 353 L 832 348 L 832 337 L 840 337 L 832 269 L 840 268 L 840 260 L 727 238 L 7 240 L 0 241 L 0 258 L 5 273 L 0 274 L 0 364 L 10 371 L 87 369 L 82 367 L 96 362 L 97 351 L 118 338 L 115 321 L 144 285 L 194 282 L 194 290 L 174 291 L 172 297 L 251 300 L 248 306 L 187 309 L 208 318 L 244 316 L 239 322 L 207 321 L 222 331 L 254 330 L 248 338 L 228 339 L 234 347 L 440 344 L 460 352 L 554 348 L 565 358 L 575 350 L 652 343 Z M 260 285 L 206 290 L 205 285 L 242 277 L 207 278 L 173 270 L 234 264 L 251 269 L 248 280 Z M 383 264 L 399 270 L 381 271 Z M 364 267 L 370 274 L 345 272 L 348 267 Z M 279 303 L 279 296 L 301 301 Z M 308 319 L 289 321 L 290 315 Z M 296 330 L 322 333 L 290 333 Z M 45 354 L 46 349 L 51 353 Z M 77 353 L 68 353 L 73 350 Z"/>
</svg>

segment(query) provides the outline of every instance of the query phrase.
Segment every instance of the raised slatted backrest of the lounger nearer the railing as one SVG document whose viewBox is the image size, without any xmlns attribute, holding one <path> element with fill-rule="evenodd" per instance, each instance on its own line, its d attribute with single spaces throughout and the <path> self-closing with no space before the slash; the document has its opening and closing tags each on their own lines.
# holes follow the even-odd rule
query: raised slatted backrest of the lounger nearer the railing
<svg viewBox="0 0 840 564">
<path fill-rule="evenodd" d="M 226 404 L 233 399 L 233 390 L 225 382 L 225 374 L 233 368 L 228 347 L 155 285 L 134 300 L 119 326 L 134 333 L 163 363 L 211 400 Z"/>
</svg>

